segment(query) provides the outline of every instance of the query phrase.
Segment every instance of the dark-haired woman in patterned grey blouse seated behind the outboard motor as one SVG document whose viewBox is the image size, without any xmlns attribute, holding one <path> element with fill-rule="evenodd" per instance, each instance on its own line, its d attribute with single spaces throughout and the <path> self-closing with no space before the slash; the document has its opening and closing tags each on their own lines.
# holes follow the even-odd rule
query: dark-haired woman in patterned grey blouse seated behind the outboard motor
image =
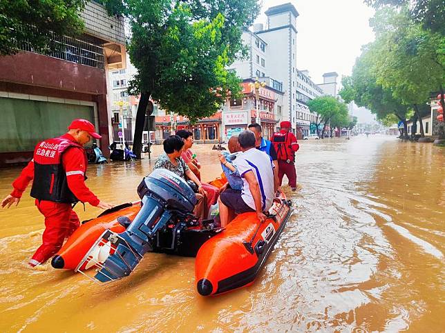
<svg viewBox="0 0 445 333">
<path fill-rule="evenodd" d="M 184 140 L 178 135 L 171 135 L 164 140 L 163 144 L 164 153 L 156 160 L 154 169 L 164 168 L 170 170 L 183 179 L 190 179 L 191 182 L 196 184 L 196 192 L 198 192 L 196 193 L 196 199 L 198 202 L 193 213 L 198 219 L 205 219 L 207 217 L 207 193 L 202 188 L 200 180 L 191 172 L 187 163 L 181 158 Z"/>
</svg>

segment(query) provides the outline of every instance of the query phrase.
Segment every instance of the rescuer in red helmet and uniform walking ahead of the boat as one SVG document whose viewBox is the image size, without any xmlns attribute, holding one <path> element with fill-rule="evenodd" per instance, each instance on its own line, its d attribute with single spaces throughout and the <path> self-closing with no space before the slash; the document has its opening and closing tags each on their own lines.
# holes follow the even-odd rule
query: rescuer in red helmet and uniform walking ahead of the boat
<svg viewBox="0 0 445 333">
<path fill-rule="evenodd" d="M 283 183 L 283 176 L 289 179 L 289 185 L 292 191 L 296 190 L 296 170 L 295 170 L 295 152 L 300 146 L 296 142 L 295 135 L 290 132 L 292 125 L 290 121 L 281 121 L 280 132 L 274 133 L 272 144 L 276 151 L 278 159 L 278 179 L 280 185 Z"/>
</svg>

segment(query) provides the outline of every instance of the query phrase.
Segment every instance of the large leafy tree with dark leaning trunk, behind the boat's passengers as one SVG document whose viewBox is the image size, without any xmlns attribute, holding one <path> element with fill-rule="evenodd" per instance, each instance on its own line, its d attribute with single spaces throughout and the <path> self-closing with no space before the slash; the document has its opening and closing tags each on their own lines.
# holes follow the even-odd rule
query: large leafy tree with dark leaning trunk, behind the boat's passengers
<svg viewBox="0 0 445 333">
<path fill-rule="evenodd" d="M 131 25 L 129 54 L 138 74 L 130 92 L 141 94 L 133 139 L 138 157 L 149 99 L 193 122 L 240 92 L 240 79 L 226 68 L 244 54 L 241 35 L 258 15 L 257 0 L 112 0 L 107 6 Z"/>
</svg>

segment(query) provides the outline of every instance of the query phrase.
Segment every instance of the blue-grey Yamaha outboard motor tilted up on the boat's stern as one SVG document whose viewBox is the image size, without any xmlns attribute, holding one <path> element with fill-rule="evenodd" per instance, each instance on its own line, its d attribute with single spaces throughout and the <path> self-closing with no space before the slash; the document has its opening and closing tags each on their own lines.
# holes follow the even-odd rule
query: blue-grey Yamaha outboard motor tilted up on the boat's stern
<svg viewBox="0 0 445 333">
<path fill-rule="evenodd" d="M 196 196 L 184 179 L 166 170 L 156 169 L 138 186 L 142 208 L 126 231 L 115 234 L 107 230 L 102 235 L 115 247 L 95 274 L 95 279 L 108 282 L 129 276 L 146 252 L 152 251 L 158 230 L 164 228 L 176 214 L 191 214 Z"/>
</svg>

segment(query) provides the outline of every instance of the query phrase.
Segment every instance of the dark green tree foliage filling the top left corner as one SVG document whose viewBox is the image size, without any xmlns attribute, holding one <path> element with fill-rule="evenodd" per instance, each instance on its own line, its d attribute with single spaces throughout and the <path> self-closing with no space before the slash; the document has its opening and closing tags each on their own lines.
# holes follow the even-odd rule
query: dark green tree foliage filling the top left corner
<svg viewBox="0 0 445 333">
<path fill-rule="evenodd" d="M 82 32 L 80 12 L 86 0 L 0 0 L 0 56 L 21 46 L 39 52 L 57 50 L 52 33 L 75 36 Z"/>
</svg>

